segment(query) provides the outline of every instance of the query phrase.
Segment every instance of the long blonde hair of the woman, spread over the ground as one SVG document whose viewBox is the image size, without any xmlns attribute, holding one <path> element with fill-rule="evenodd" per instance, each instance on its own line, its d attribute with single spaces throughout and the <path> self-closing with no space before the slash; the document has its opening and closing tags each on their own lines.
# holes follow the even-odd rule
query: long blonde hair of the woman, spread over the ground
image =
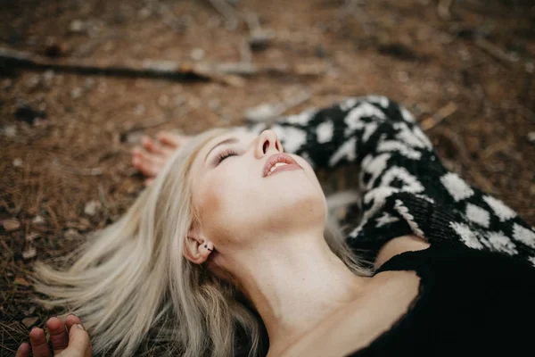
<svg viewBox="0 0 535 357">
<path fill-rule="evenodd" d="M 266 350 L 259 315 L 233 285 L 183 255 L 193 223 L 193 159 L 212 129 L 181 147 L 128 212 L 88 237 L 72 253 L 67 270 L 36 264 L 36 298 L 45 307 L 67 309 L 84 322 L 94 353 L 131 356 L 146 344 L 165 346 L 169 355 L 233 356 L 237 328 L 249 342 L 249 357 Z M 328 245 L 355 274 L 368 271 L 345 244 L 333 220 L 325 228 Z M 243 347 L 244 342 L 239 342 Z"/>
</svg>

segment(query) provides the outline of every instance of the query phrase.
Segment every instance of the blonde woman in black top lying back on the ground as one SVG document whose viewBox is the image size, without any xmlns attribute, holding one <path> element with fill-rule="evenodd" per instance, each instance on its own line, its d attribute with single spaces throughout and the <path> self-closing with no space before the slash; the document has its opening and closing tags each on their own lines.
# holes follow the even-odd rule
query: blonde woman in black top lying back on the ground
<svg viewBox="0 0 535 357">
<path fill-rule="evenodd" d="M 134 355 L 146 340 L 269 357 L 528 344 L 517 324 L 535 318 L 535 231 L 446 170 L 388 98 L 181 139 L 136 150 L 150 185 L 69 270 L 37 266 L 52 297 L 40 302 L 80 316 L 96 353 Z M 364 212 L 345 240 L 326 229 L 313 170 L 342 164 L 360 167 Z"/>
</svg>

